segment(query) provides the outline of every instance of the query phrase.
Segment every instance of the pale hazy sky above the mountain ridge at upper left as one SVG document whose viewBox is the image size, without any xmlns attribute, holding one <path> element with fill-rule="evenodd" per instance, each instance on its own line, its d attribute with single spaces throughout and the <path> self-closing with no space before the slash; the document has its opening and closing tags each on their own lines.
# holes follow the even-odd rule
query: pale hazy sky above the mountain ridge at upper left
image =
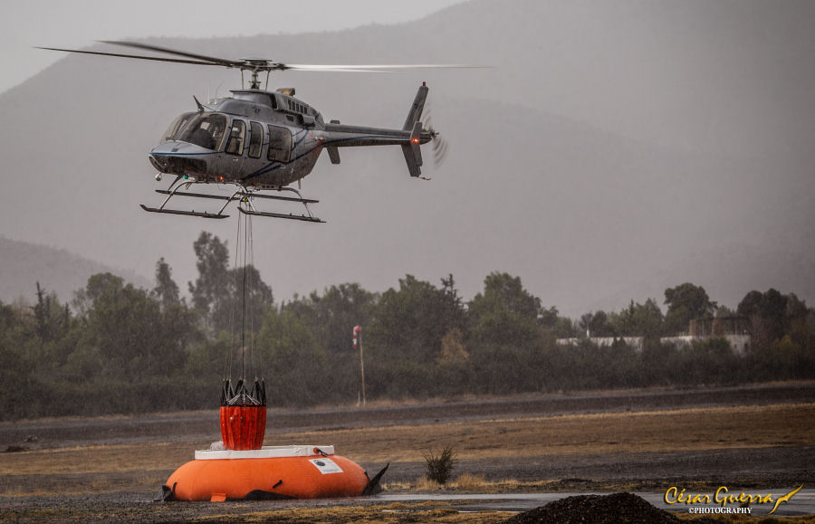
<svg viewBox="0 0 815 524">
<path fill-rule="evenodd" d="M 332 31 L 422 18 L 463 0 L 0 0 L 0 92 L 95 40 Z M 239 57 L 225 57 L 239 58 Z M 292 60 L 273 56 L 275 60 Z"/>
</svg>

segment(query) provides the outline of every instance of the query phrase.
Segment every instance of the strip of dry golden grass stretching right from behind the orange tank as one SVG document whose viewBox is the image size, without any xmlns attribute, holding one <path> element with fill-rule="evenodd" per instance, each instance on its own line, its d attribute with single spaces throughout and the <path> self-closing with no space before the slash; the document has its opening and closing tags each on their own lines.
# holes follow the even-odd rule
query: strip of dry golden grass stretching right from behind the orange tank
<svg viewBox="0 0 815 524">
<path fill-rule="evenodd" d="M 815 405 L 764 405 L 483 420 L 289 433 L 331 440 L 360 462 L 422 462 L 421 450 L 455 442 L 462 460 L 551 454 L 681 452 L 815 442 Z"/>
</svg>

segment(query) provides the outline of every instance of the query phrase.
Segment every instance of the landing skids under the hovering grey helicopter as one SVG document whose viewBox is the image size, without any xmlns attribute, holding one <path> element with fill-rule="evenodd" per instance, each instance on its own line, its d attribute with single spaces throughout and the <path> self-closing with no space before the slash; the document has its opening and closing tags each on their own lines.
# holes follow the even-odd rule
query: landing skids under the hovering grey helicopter
<svg viewBox="0 0 815 524">
<path fill-rule="evenodd" d="M 177 178 L 173 181 L 172 184 L 168 187 L 168 189 L 157 189 L 156 193 L 160 195 L 167 195 L 164 202 L 158 207 L 149 207 L 147 205 L 141 205 L 141 208 L 149 213 L 166 213 L 166 214 L 182 214 L 186 216 L 198 216 L 201 218 L 228 218 L 228 214 L 224 214 L 226 206 L 229 205 L 231 202 L 238 202 L 238 210 L 243 214 L 248 215 L 255 215 L 255 216 L 266 216 L 270 218 L 283 218 L 288 220 L 300 220 L 303 222 L 316 222 L 322 223 L 323 221 L 316 216 L 314 216 L 309 209 L 309 204 L 317 204 L 319 200 L 312 200 L 309 198 L 303 198 L 299 191 L 294 189 L 293 187 L 278 187 L 277 191 L 290 191 L 294 193 L 295 196 L 283 196 L 283 195 L 266 195 L 258 193 L 257 190 L 250 190 L 246 186 L 242 186 L 240 184 L 235 184 L 237 189 L 232 195 L 225 196 L 225 195 L 212 195 L 208 193 L 192 193 L 189 191 L 179 191 L 181 187 L 186 186 L 189 189 L 190 186 L 193 184 L 197 184 L 197 182 L 190 182 L 186 179 L 183 179 L 181 176 L 177 176 Z M 174 196 L 185 196 L 191 198 L 204 198 L 204 199 L 211 199 L 211 200 L 220 200 L 224 202 L 224 205 L 216 213 L 211 212 L 201 212 L 201 211 L 187 211 L 183 209 L 172 209 L 167 208 L 166 205 L 170 201 L 170 199 Z M 293 214 L 293 213 L 278 213 L 278 212 L 266 212 L 266 211 L 259 211 L 255 208 L 253 204 L 253 200 L 255 198 L 260 199 L 268 199 L 268 200 L 278 200 L 284 202 L 296 202 L 303 205 L 305 208 L 306 214 Z"/>
</svg>

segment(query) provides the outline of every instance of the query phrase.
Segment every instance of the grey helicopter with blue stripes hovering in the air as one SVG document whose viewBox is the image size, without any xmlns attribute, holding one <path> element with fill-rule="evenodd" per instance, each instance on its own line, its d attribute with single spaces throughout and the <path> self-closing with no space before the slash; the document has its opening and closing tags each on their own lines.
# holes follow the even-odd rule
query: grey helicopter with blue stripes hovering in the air
<svg viewBox="0 0 815 524">
<path fill-rule="evenodd" d="M 437 158 L 446 152 L 446 143 L 435 129 L 424 129 L 421 120 L 428 88 L 425 82 L 418 88 L 408 117 L 401 129 L 382 129 L 340 124 L 339 120 L 325 122 L 321 112 L 308 103 L 295 98 L 294 88 L 268 91 L 272 71 L 350 71 L 388 72 L 400 69 L 469 68 L 484 67 L 465 64 L 415 65 L 313 65 L 273 62 L 262 58 L 227 60 L 203 54 L 184 52 L 147 43 L 102 41 L 142 51 L 160 52 L 172 57 L 98 52 L 54 47 L 39 49 L 76 52 L 158 62 L 220 66 L 241 71 L 242 89 L 231 90 L 232 96 L 202 103 L 193 97 L 197 110 L 188 111 L 174 119 L 162 134 L 158 145 L 149 153 L 149 162 L 157 169 L 156 180 L 174 176 L 167 189 L 156 192 L 166 195 L 158 207 L 141 205 L 150 213 L 183 214 L 202 218 L 223 219 L 226 207 L 238 202 L 242 214 L 324 222 L 309 208 L 319 201 L 304 198 L 293 183 L 300 182 L 314 168 L 323 150 L 328 152 L 331 164 L 340 164 L 340 148 L 389 146 L 402 149 L 408 173 L 422 177 L 423 165 L 420 146 L 433 141 Z M 244 88 L 244 73 L 250 78 Z M 261 89 L 260 75 L 266 73 L 265 88 Z M 190 192 L 194 185 L 217 184 L 235 186 L 235 191 L 216 195 Z M 293 195 L 280 195 L 287 192 Z M 176 209 L 168 207 L 176 197 L 216 199 L 223 201 L 216 212 Z M 260 211 L 254 199 L 288 201 L 303 205 L 305 214 Z"/>
</svg>

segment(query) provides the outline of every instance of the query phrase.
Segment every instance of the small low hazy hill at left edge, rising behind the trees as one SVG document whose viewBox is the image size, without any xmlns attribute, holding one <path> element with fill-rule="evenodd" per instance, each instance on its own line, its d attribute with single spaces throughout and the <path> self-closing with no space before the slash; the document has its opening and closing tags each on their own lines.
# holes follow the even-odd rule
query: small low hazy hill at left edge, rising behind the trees
<svg viewBox="0 0 815 524">
<path fill-rule="evenodd" d="M 7 303 L 23 298 L 36 301 L 37 282 L 59 300 L 70 301 L 73 292 L 85 287 L 91 275 L 111 272 L 140 287 L 149 280 L 129 270 L 116 270 L 78 254 L 33 243 L 17 242 L 0 236 L 0 301 Z"/>
</svg>

